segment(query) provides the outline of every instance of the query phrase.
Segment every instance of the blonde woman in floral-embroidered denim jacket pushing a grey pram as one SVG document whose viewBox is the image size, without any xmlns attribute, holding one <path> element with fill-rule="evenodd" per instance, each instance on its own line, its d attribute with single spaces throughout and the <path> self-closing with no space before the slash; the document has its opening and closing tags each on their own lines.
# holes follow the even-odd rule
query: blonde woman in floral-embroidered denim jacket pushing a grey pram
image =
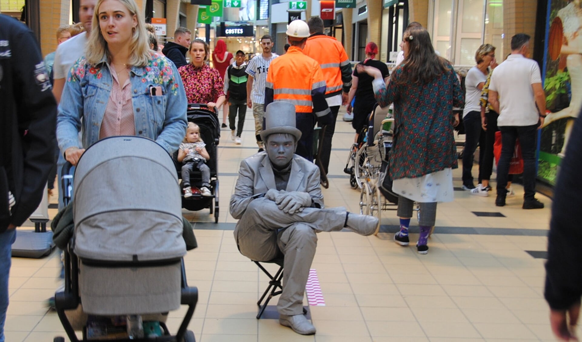
<svg viewBox="0 0 582 342">
<path fill-rule="evenodd" d="M 147 137 L 172 154 L 186 133 L 186 94 L 173 63 L 150 50 L 136 2 L 98 1 L 93 27 L 59 106 L 57 137 L 66 160 L 76 165 L 87 147 L 111 136 Z"/>
</svg>

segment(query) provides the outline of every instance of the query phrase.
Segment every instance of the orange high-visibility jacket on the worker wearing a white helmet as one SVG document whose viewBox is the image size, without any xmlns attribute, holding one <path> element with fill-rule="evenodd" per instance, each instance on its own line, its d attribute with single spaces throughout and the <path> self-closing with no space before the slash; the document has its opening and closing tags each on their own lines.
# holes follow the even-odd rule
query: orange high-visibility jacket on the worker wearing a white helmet
<svg viewBox="0 0 582 342">
<path fill-rule="evenodd" d="M 331 113 L 325 101 L 325 79 L 317 61 L 290 47 L 275 58 L 267 72 L 265 108 L 274 101 L 295 105 L 297 113 L 314 113 L 318 117 Z"/>
</svg>

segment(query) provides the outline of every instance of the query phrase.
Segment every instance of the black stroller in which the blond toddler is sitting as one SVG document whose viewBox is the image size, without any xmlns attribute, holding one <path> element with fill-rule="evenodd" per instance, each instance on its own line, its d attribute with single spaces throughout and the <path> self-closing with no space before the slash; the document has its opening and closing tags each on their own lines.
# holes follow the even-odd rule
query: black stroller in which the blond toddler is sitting
<svg viewBox="0 0 582 342">
<path fill-rule="evenodd" d="M 189 211 L 199 211 L 201 209 L 209 208 L 210 213 L 214 213 L 214 222 L 218 223 L 218 143 L 220 141 L 220 123 L 215 111 L 208 108 L 204 104 L 189 104 L 187 111 L 188 122 L 193 122 L 200 127 L 200 137 L 206 144 L 206 150 L 210 155 L 210 160 L 207 161 L 208 168 L 210 168 L 210 191 L 212 196 L 203 196 L 201 194 L 193 194 L 189 198 L 184 198 L 182 194 L 182 208 Z M 177 155 L 177 154 L 176 154 Z M 174 158 L 176 160 L 176 158 Z M 178 170 L 178 177 L 182 178 L 180 170 L 182 165 L 176 163 L 176 170 Z M 202 186 L 201 173 L 194 170 L 190 173 L 190 184 L 193 188 L 200 188 Z M 214 200 L 214 205 L 213 205 Z"/>
</svg>

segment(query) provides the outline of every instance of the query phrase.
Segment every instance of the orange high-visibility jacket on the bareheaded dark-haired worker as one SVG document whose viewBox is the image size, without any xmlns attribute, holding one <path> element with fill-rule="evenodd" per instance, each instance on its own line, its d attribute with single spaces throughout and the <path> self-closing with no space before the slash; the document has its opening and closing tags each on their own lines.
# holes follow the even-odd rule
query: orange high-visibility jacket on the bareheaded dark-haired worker
<svg viewBox="0 0 582 342">
<path fill-rule="evenodd" d="M 342 43 L 322 33 L 307 38 L 303 53 L 320 63 L 325 77 L 325 97 L 349 92 L 352 87 L 352 64 Z"/>
</svg>

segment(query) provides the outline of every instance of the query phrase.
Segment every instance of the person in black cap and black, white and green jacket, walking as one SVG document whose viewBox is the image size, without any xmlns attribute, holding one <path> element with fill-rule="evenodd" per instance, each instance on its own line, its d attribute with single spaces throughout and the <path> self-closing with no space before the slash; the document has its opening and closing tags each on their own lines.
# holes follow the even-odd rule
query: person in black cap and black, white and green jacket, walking
<svg viewBox="0 0 582 342">
<path fill-rule="evenodd" d="M 243 133 L 244 116 L 247 113 L 247 63 L 244 61 L 244 52 L 237 51 L 235 62 L 226 68 L 224 75 L 224 93 L 228 96 L 228 122 L 230 124 L 230 140 L 237 145 L 241 144 L 240 134 Z M 239 113 L 239 124 L 235 126 L 236 113 Z M 235 135 L 236 130 L 236 135 Z"/>
</svg>

